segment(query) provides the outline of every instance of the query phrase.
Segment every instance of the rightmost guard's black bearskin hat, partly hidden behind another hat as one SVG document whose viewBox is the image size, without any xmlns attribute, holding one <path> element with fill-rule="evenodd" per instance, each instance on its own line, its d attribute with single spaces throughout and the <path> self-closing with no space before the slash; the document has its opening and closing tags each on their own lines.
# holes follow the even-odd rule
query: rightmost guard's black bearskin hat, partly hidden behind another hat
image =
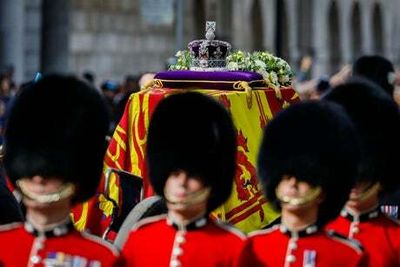
<svg viewBox="0 0 400 267">
<path fill-rule="evenodd" d="M 385 191 L 398 183 L 400 114 L 397 104 L 377 85 L 356 78 L 324 96 L 344 107 L 360 136 L 359 181 L 380 182 Z"/>
</svg>

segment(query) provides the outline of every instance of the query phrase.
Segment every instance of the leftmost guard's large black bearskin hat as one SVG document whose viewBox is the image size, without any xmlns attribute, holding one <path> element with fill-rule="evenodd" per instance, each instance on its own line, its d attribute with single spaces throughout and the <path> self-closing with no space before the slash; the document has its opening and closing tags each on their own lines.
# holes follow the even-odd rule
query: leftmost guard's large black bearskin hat
<svg viewBox="0 0 400 267">
<path fill-rule="evenodd" d="M 5 132 L 4 166 L 23 177 L 56 177 L 92 197 L 101 178 L 108 113 L 100 94 L 74 77 L 49 75 L 17 95 Z"/>
</svg>

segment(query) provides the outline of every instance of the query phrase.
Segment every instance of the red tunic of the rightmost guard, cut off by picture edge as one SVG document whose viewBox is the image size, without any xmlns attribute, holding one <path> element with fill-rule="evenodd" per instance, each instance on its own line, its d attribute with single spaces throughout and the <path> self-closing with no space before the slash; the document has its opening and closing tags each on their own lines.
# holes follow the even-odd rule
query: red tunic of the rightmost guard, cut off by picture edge
<svg viewBox="0 0 400 267">
<path fill-rule="evenodd" d="M 400 266 L 400 226 L 378 209 L 358 217 L 342 211 L 327 229 L 358 240 L 370 266 Z"/>
</svg>

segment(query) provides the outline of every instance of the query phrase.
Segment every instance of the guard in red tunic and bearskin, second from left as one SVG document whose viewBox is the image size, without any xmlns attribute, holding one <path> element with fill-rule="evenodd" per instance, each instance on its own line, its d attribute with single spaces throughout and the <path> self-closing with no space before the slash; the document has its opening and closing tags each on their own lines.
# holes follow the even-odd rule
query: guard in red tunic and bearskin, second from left
<svg viewBox="0 0 400 267">
<path fill-rule="evenodd" d="M 235 266 L 245 236 L 209 218 L 231 194 L 236 134 L 228 111 L 195 92 L 156 107 L 148 130 L 147 163 L 167 215 L 147 218 L 130 232 L 127 266 Z"/>
</svg>

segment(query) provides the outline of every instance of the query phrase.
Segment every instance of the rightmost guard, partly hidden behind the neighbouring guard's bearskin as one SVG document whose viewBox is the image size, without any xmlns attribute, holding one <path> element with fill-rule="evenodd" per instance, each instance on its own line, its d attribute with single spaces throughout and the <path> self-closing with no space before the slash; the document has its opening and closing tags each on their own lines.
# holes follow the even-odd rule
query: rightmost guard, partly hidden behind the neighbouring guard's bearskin
<svg viewBox="0 0 400 267">
<path fill-rule="evenodd" d="M 369 266 L 400 266 L 400 226 L 379 209 L 379 196 L 399 184 L 400 114 L 389 94 L 367 80 L 350 80 L 324 100 L 344 107 L 359 136 L 357 181 L 341 215 L 327 229 L 354 238 L 368 254 Z"/>
</svg>

